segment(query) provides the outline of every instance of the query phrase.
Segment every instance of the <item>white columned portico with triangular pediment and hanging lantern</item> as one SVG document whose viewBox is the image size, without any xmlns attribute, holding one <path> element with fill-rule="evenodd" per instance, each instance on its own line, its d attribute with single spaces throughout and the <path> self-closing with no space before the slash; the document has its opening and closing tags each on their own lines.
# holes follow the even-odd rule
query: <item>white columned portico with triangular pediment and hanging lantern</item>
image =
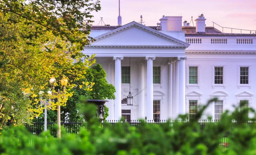
<svg viewBox="0 0 256 155">
<path fill-rule="evenodd" d="M 119 120 L 122 110 L 130 110 L 131 119 L 147 120 L 185 113 L 185 49 L 189 44 L 136 22 L 95 39 L 83 52 L 96 54 L 97 63 L 102 64 L 108 81 L 116 87 L 116 99 L 108 103 L 108 119 Z M 122 67 L 128 67 L 130 57 L 128 76 L 134 105 L 125 105 L 122 99 L 127 97 L 129 86 L 122 83 Z"/>
</svg>

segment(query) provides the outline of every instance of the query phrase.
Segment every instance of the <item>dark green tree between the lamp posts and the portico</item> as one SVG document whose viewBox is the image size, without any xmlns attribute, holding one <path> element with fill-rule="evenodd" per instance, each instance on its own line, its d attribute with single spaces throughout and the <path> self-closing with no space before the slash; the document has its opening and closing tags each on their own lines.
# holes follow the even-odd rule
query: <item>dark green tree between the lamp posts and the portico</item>
<svg viewBox="0 0 256 155">
<path fill-rule="evenodd" d="M 81 62 L 79 62 L 81 63 Z M 108 84 L 106 80 L 106 72 L 101 65 L 96 64 L 86 71 L 86 80 L 93 82 L 92 91 L 84 90 L 79 85 L 73 87 L 70 91 L 73 92 L 73 96 L 69 97 L 66 106 L 61 107 L 61 121 L 65 122 L 77 122 L 82 121 L 83 117 L 79 114 L 79 108 L 82 106 L 81 98 L 83 99 L 115 99 L 115 87 L 112 84 Z M 83 82 L 84 79 L 80 79 L 78 83 Z M 108 107 L 105 106 L 105 115 L 108 116 Z M 44 114 L 41 114 L 38 119 L 34 121 L 44 121 Z M 47 121 L 56 122 L 56 111 L 47 112 Z"/>
</svg>

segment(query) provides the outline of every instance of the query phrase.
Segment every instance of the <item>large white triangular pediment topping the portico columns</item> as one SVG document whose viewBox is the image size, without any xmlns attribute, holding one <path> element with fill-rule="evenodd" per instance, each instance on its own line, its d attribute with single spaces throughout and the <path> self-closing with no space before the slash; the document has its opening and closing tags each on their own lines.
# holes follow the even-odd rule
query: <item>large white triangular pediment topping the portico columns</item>
<svg viewBox="0 0 256 155">
<path fill-rule="evenodd" d="M 189 44 L 137 22 L 131 22 L 95 37 L 90 46 L 168 46 L 188 47 Z"/>
</svg>

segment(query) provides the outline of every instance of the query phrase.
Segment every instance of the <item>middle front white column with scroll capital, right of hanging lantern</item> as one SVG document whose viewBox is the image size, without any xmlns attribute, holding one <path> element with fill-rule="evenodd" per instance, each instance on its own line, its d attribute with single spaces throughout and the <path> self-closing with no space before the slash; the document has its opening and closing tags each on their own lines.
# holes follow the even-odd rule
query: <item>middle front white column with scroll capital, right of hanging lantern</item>
<svg viewBox="0 0 256 155">
<path fill-rule="evenodd" d="M 145 57 L 147 60 L 147 120 L 153 120 L 153 60 L 155 57 Z"/>
</svg>

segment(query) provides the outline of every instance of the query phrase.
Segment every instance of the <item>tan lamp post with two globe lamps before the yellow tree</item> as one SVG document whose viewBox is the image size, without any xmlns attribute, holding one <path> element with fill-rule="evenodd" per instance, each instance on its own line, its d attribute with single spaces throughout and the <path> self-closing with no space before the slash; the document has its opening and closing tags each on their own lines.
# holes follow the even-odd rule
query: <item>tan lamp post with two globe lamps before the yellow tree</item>
<svg viewBox="0 0 256 155">
<path fill-rule="evenodd" d="M 49 80 L 49 82 L 50 82 L 50 85 L 51 85 L 52 89 L 54 89 L 55 88 L 54 83 L 56 82 L 56 79 L 54 77 L 52 77 Z M 63 88 L 63 91 L 60 92 L 60 90 L 58 89 L 58 92 L 56 94 L 65 94 L 66 85 L 67 85 L 67 79 L 65 77 L 63 77 L 61 79 L 61 86 Z M 64 96 L 64 99 L 65 99 L 65 96 Z M 59 102 L 59 99 L 58 99 L 58 102 Z M 57 137 L 61 138 L 61 106 L 60 105 L 57 105 L 57 124 L 58 124 Z"/>
</svg>

